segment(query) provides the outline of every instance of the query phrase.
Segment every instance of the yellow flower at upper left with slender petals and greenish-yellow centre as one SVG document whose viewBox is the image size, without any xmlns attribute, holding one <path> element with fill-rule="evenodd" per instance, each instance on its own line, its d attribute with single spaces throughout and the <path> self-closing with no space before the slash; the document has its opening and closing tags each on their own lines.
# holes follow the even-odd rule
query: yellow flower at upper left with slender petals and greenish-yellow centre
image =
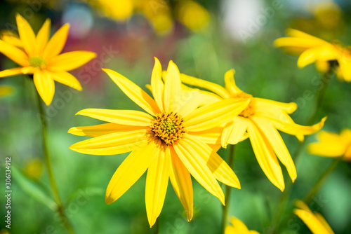
<svg viewBox="0 0 351 234">
<path fill-rule="evenodd" d="M 15 36 L 12 36 L 10 40 L 8 37 L 11 35 L 7 35 L 6 39 L 3 36 L 3 40 L 0 40 L 0 53 L 3 53 L 21 67 L 0 71 L 0 77 L 33 74 L 34 85 L 46 105 L 51 104 L 53 99 L 55 93 L 54 81 L 81 90 L 77 78 L 67 71 L 81 67 L 81 65 L 93 59 L 95 53 L 73 51 L 60 54 L 65 46 L 69 25 L 63 25 L 48 40 L 51 25 L 49 19 L 44 22 L 37 36 L 21 15 L 17 14 L 16 20 L 20 39 L 18 39 L 19 41 L 13 41 Z M 9 43 L 9 41 L 12 41 L 12 43 Z"/>
</svg>

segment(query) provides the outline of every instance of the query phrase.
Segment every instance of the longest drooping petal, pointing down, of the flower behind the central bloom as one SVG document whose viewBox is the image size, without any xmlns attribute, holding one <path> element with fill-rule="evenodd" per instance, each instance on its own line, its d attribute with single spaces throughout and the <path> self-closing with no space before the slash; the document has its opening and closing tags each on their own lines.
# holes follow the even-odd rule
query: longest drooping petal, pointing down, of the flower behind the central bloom
<svg viewBox="0 0 351 234">
<path fill-rule="evenodd" d="M 274 155 L 272 146 L 270 146 L 263 133 L 253 123 L 248 124 L 248 132 L 253 152 L 263 172 L 265 172 L 265 175 L 274 186 L 284 191 L 282 168 L 279 165 L 277 156 Z"/>
</svg>

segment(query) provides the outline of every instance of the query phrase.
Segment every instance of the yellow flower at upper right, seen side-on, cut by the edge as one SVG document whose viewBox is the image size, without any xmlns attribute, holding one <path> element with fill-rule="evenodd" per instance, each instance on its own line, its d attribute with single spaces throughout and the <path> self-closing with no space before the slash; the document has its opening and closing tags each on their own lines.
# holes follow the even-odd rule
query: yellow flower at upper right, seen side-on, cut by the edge
<svg viewBox="0 0 351 234">
<path fill-rule="evenodd" d="M 336 67 L 340 81 L 351 81 L 351 50 L 340 43 L 329 43 L 296 29 L 287 29 L 289 37 L 279 38 L 274 45 L 282 47 L 288 53 L 299 55 L 298 67 L 302 68 L 316 62 L 321 72 Z"/>
</svg>

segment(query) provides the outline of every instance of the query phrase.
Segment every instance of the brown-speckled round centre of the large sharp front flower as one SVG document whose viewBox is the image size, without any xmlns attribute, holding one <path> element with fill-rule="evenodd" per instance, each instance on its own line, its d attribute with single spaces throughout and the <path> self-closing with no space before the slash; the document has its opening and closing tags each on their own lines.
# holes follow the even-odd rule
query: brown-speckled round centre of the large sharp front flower
<svg viewBox="0 0 351 234">
<path fill-rule="evenodd" d="M 177 142 L 185 134 L 183 119 L 177 113 L 158 113 L 151 122 L 154 137 L 159 137 L 167 146 Z"/>
</svg>

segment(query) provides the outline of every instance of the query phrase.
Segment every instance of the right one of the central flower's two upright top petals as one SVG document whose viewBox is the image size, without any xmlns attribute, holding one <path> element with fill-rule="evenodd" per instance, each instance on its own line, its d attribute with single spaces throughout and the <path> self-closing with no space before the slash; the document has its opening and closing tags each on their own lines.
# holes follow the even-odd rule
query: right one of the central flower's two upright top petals
<svg viewBox="0 0 351 234">
<path fill-rule="evenodd" d="M 174 62 L 170 61 L 165 73 L 164 83 L 164 111 L 178 112 L 182 104 L 180 103 L 180 74 L 178 67 Z"/>
</svg>

